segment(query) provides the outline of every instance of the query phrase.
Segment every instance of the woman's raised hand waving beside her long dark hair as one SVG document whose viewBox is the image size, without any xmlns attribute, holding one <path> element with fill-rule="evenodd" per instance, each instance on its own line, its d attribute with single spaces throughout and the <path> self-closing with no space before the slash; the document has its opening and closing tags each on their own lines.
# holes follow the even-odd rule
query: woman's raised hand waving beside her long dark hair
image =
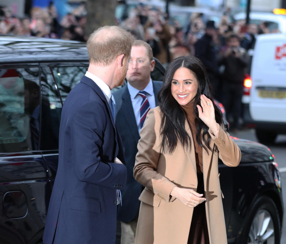
<svg viewBox="0 0 286 244">
<path fill-rule="evenodd" d="M 200 95 L 200 105 L 197 105 L 199 118 L 209 127 L 211 131 L 216 131 L 219 125 L 215 121 L 215 108 L 210 99 L 205 95 Z"/>
</svg>

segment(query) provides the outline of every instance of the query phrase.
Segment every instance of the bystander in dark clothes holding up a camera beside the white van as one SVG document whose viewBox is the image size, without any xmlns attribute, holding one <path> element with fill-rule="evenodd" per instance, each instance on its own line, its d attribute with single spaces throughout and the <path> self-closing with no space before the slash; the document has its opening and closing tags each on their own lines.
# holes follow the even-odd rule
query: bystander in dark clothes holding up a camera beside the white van
<svg viewBox="0 0 286 244">
<path fill-rule="evenodd" d="M 243 95 L 244 74 L 249 56 L 240 46 L 240 38 L 230 34 L 226 39 L 226 48 L 218 65 L 222 68 L 221 102 L 226 109 L 230 130 L 238 129 Z"/>
</svg>

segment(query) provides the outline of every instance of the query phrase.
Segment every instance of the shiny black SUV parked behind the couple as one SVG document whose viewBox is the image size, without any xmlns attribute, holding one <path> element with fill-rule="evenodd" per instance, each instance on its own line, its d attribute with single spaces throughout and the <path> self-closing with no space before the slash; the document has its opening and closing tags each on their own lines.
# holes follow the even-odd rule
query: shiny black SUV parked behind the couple
<svg viewBox="0 0 286 244">
<path fill-rule="evenodd" d="M 42 242 L 61 108 L 87 67 L 85 43 L 0 35 L 1 244 Z M 158 80 L 164 68 L 156 67 Z M 278 244 L 283 202 L 277 163 L 264 145 L 233 139 L 240 165 L 219 164 L 228 242 Z"/>
</svg>

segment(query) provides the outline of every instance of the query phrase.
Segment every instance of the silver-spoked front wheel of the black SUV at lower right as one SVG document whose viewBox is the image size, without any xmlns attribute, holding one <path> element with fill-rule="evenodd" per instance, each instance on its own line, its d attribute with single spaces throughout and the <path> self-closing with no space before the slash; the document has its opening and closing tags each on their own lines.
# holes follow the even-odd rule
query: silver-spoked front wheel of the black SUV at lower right
<svg viewBox="0 0 286 244">
<path fill-rule="evenodd" d="M 279 244 L 280 221 L 273 200 L 260 197 L 253 205 L 243 228 L 242 244 Z"/>
</svg>

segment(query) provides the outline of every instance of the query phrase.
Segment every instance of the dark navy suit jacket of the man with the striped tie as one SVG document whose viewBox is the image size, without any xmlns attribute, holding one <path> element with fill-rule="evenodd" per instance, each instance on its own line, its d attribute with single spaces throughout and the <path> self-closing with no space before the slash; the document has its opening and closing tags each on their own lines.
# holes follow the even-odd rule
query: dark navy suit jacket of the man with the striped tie
<svg viewBox="0 0 286 244">
<path fill-rule="evenodd" d="M 163 82 L 152 81 L 152 83 L 155 103 L 156 106 L 158 106 L 158 92 Z M 129 222 L 135 218 L 138 212 L 140 206 L 138 198 L 142 192 L 142 185 L 133 177 L 133 167 L 135 156 L 138 152 L 137 144 L 140 136 L 128 87 L 124 86 L 115 91 L 113 95 L 116 101 L 116 126 L 123 141 L 125 165 L 127 167 L 127 185 L 126 188 L 121 191 L 122 206 L 118 207 L 117 219 L 123 222 Z"/>
</svg>

